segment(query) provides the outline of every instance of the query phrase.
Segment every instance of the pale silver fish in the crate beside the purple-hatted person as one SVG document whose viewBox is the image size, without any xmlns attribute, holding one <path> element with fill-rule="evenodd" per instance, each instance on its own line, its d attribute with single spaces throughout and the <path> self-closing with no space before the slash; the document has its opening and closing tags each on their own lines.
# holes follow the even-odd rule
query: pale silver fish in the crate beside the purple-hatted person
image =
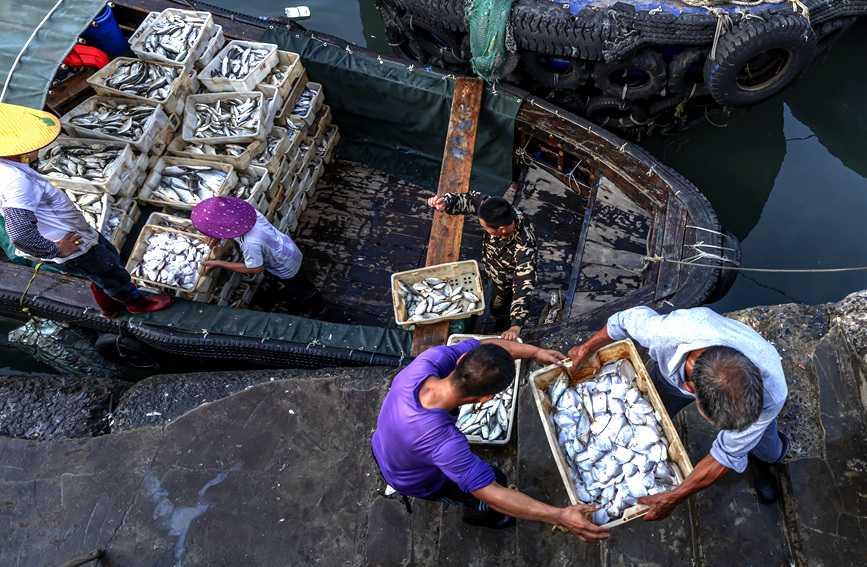
<svg viewBox="0 0 867 567">
<path fill-rule="evenodd" d="M 192 290 L 199 264 L 207 259 L 208 245 L 191 236 L 155 232 L 141 261 L 130 272 L 154 283 Z"/>
</svg>

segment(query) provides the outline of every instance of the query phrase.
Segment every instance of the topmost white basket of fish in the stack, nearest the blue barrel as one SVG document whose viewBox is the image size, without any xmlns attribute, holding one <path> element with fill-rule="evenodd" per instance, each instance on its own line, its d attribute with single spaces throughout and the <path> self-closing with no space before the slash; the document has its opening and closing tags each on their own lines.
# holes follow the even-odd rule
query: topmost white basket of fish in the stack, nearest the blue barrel
<svg viewBox="0 0 867 567">
<path fill-rule="evenodd" d="M 169 8 L 149 14 L 130 36 L 129 47 L 141 59 L 178 63 L 190 71 L 218 27 L 210 12 Z"/>
</svg>

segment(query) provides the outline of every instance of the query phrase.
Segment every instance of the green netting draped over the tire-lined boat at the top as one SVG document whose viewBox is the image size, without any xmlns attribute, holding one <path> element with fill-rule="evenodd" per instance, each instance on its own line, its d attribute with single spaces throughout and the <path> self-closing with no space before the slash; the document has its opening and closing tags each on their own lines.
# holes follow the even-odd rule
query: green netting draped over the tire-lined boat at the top
<svg viewBox="0 0 867 567">
<path fill-rule="evenodd" d="M 499 81 L 513 67 L 507 53 L 510 36 L 509 14 L 515 0 L 469 0 L 465 9 L 470 26 L 470 65 L 487 82 Z M 514 53 L 514 46 L 511 46 Z"/>
</svg>

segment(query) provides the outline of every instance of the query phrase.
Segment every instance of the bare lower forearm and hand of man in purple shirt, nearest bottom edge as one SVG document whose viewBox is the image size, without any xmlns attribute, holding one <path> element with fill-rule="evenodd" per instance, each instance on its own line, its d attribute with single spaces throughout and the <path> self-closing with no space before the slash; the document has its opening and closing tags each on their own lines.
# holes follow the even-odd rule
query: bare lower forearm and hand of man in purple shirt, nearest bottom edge
<svg viewBox="0 0 867 567">
<path fill-rule="evenodd" d="M 486 503 L 494 510 L 534 522 L 546 522 L 555 526 L 563 526 L 583 541 L 598 541 L 608 539 L 608 528 L 593 524 L 587 519 L 587 514 L 599 509 L 598 504 L 592 506 L 579 504 L 567 508 L 556 508 L 539 502 L 517 490 L 509 490 L 492 482 L 484 488 L 474 490 L 472 495 Z"/>
</svg>

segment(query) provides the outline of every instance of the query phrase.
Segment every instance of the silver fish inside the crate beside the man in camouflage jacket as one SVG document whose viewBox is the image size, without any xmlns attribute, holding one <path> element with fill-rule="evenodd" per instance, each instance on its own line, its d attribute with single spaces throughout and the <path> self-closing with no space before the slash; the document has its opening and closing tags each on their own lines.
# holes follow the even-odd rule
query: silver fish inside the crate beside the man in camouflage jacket
<svg viewBox="0 0 867 567">
<path fill-rule="evenodd" d="M 448 317 L 476 308 L 479 297 L 460 285 L 452 286 L 437 278 L 427 278 L 424 281 L 407 286 L 400 280 L 395 280 L 398 295 L 403 301 L 406 311 L 404 321 L 424 321 L 434 317 Z"/>
</svg>

